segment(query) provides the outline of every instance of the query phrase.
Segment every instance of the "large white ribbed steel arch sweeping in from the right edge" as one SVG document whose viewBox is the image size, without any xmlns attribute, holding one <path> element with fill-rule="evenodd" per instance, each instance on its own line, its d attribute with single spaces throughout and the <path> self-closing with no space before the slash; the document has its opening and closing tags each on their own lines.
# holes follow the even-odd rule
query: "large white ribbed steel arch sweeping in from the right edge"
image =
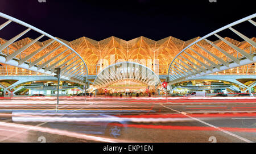
<svg viewBox="0 0 256 154">
<path fill-rule="evenodd" d="M 170 84 L 175 84 L 181 81 L 191 80 L 192 78 L 204 76 L 214 72 L 220 72 L 221 70 L 227 70 L 236 68 L 238 66 L 247 65 L 256 62 L 254 40 L 247 38 L 247 36 L 241 34 L 235 30 L 234 26 L 243 22 L 250 22 L 251 32 L 255 34 L 256 23 L 253 18 L 256 14 L 247 16 L 236 22 L 230 23 L 216 31 L 205 35 L 203 38 L 194 41 L 180 51 L 172 60 L 168 69 L 168 77 Z M 244 24 L 244 23 L 243 23 Z M 248 45 L 245 48 L 240 48 L 236 44 L 230 42 L 227 39 L 218 35 L 218 32 L 229 29 L 234 34 L 240 36 L 245 40 Z M 224 48 L 216 45 L 215 42 L 209 41 L 207 38 L 210 36 L 216 36 L 219 41 L 222 41 L 222 45 L 229 46 L 232 51 L 225 51 Z M 250 48 L 250 50 L 248 50 Z M 200 51 L 200 52 L 199 52 Z M 220 79 L 221 80 L 221 79 Z"/>
</svg>

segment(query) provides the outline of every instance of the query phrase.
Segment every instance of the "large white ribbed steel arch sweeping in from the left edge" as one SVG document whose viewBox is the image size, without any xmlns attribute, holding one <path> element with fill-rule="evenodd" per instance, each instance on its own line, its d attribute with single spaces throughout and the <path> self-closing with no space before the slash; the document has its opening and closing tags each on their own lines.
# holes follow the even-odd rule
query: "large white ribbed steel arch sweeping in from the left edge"
<svg viewBox="0 0 256 154">
<path fill-rule="evenodd" d="M 0 63 L 13 65 L 19 68 L 33 70 L 35 72 L 44 73 L 48 75 L 55 75 L 54 69 L 61 68 L 61 78 L 73 82 L 83 83 L 82 78 L 88 76 L 88 69 L 82 57 L 69 45 L 63 41 L 47 34 L 38 28 L 15 19 L 9 15 L 0 13 L 0 17 L 7 19 L 3 24 L 0 24 L 0 31 L 8 26 L 11 22 L 18 23 L 27 29 L 14 38 L 7 40 L 5 43 L 0 43 Z M 9 51 L 9 45 L 14 41 L 25 35 L 28 31 L 36 31 L 40 36 L 18 49 Z M 47 37 L 46 44 L 42 47 L 25 52 L 33 48 L 33 45 L 38 43 L 40 39 Z"/>
</svg>

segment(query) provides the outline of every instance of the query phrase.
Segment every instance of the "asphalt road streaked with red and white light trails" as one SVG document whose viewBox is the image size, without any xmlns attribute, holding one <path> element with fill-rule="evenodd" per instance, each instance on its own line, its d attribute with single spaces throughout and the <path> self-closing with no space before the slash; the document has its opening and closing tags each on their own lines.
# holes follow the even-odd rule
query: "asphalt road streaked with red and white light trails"
<svg viewBox="0 0 256 154">
<path fill-rule="evenodd" d="M 52 98 L 0 100 L 0 141 L 256 141 L 256 99 L 251 98 L 63 98 L 58 107 L 56 113 Z M 104 127 L 113 119 L 121 124 L 119 138 Z"/>
</svg>

